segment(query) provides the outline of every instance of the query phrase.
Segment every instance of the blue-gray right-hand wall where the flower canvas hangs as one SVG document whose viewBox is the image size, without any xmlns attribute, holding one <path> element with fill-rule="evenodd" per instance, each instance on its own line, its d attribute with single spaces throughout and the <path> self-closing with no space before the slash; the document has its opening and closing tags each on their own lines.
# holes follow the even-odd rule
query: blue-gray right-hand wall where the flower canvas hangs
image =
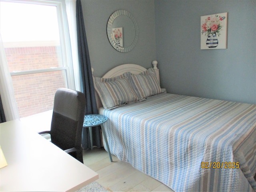
<svg viewBox="0 0 256 192">
<path fill-rule="evenodd" d="M 227 49 L 200 50 L 200 16 L 228 12 Z M 155 0 L 168 92 L 256 104 L 256 0 Z"/>
</svg>

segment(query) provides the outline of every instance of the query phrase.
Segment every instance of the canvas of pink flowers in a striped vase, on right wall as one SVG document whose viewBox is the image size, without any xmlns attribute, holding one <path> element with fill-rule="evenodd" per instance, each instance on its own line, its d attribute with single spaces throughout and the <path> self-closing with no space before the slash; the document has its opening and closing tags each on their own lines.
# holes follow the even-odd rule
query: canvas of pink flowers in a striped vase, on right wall
<svg viewBox="0 0 256 192">
<path fill-rule="evenodd" d="M 201 49 L 227 48 L 228 13 L 201 16 Z"/>
</svg>

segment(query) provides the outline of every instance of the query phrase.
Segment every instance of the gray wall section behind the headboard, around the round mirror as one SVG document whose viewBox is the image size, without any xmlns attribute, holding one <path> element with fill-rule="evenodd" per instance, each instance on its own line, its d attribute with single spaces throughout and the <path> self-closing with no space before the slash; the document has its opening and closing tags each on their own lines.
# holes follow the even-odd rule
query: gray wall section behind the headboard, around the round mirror
<svg viewBox="0 0 256 192">
<path fill-rule="evenodd" d="M 86 36 L 94 76 L 124 63 L 151 67 L 156 60 L 154 0 L 82 0 Z M 106 26 L 116 10 L 130 12 L 138 23 L 139 39 L 133 50 L 120 53 L 110 45 Z"/>
</svg>

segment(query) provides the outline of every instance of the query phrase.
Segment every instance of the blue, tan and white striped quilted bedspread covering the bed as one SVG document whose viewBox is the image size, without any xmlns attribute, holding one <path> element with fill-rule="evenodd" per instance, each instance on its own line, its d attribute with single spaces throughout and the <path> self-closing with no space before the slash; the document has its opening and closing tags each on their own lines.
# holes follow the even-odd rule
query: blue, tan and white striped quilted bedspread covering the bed
<svg viewBox="0 0 256 192">
<path fill-rule="evenodd" d="M 112 154 L 174 191 L 255 191 L 256 106 L 162 93 L 102 112 Z"/>
</svg>

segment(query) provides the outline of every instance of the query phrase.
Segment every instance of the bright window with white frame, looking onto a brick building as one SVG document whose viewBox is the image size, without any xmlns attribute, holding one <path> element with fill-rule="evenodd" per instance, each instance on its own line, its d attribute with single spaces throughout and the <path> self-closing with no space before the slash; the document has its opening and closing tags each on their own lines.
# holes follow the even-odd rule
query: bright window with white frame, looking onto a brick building
<svg viewBox="0 0 256 192">
<path fill-rule="evenodd" d="M 75 89 L 65 2 L 0 0 L 0 34 L 20 118 L 51 110 Z"/>
</svg>

